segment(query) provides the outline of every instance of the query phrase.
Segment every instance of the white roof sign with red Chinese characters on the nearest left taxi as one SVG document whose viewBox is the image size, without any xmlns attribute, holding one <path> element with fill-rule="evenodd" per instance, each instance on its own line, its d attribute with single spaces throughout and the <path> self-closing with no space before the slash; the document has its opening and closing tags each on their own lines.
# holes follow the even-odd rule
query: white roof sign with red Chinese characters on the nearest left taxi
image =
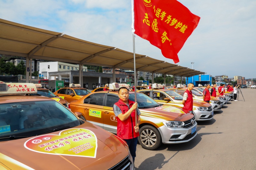
<svg viewBox="0 0 256 170">
<path fill-rule="evenodd" d="M 0 82 L 0 94 L 32 94 L 37 93 L 34 83 L 5 83 Z"/>
</svg>

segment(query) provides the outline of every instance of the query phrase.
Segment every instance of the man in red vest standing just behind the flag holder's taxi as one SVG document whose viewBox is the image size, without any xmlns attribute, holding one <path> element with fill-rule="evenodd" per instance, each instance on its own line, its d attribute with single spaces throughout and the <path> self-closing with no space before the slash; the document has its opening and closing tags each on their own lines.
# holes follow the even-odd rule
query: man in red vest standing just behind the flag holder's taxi
<svg viewBox="0 0 256 170">
<path fill-rule="evenodd" d="M 183 94 L 182 104 L 184 105 L 183 109 L 188 110 L 190 113 L 193 113 L 193 95 L 192 90 L 194 89 L 194 84 L 189 83 L 188 89 Z"/>
</svg>

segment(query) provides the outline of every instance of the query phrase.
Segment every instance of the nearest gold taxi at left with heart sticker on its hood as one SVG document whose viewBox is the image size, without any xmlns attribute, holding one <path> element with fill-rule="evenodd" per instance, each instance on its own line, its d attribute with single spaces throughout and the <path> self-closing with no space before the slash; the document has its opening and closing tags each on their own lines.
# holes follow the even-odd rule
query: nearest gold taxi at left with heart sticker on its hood
<svg viewBox="0 0 256 170">
<path fill-rule="evenodd" d="M 122 139 L 35 93 L 0 82 L 0 169 L 134 169 Z"/>
</svg>

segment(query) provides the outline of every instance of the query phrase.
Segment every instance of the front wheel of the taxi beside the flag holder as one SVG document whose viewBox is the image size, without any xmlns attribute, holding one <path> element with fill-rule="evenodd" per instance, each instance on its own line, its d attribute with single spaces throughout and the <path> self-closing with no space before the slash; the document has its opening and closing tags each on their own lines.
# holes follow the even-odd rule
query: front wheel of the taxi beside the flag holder
<svg viewBox="0 0 256 170">
<path fill-rule="evenodd" d="M 140 128 L 138 140 L 140 145 L 147 150 L 154 150 L 162 144 L 160 132 L 150 125 L 145 125 Z"/>
</svg>

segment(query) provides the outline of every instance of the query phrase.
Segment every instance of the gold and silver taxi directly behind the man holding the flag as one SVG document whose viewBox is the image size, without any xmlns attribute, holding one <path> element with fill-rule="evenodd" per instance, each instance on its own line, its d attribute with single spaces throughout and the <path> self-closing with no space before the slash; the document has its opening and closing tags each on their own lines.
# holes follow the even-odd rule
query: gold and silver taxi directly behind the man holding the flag
<svg viewBox="0 0 256 170">
<path fill-rule="evenodd" d="M 117 120 L 113 105 L 119 100 L 119 84 L 109 84 L 112 91 L 100 91 L 88 94 L 78 101 L 71 102 L 73 112 L 82 113 L 84 120 L 116 134 Z M 135 92 L 129 91 L 129 99 L 135 100 Z M 148 150 L 158 148 L 162 143 L 184 143 L 195 138 L 197 123 L 191 113 L 175 106 L 156 103 L 150 97 L 136 93 L 140 115 L 140 145 Z"/>
</svg>

